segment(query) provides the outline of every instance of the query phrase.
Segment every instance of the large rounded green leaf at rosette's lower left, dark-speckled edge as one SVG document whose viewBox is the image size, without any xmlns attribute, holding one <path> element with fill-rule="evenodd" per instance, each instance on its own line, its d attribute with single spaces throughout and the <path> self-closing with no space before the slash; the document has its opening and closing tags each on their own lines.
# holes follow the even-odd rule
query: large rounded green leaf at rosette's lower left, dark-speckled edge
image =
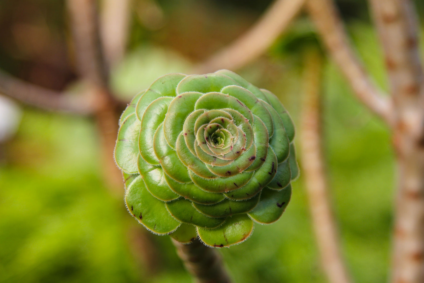
<svg viewBox="0 0 424 283">
<path fill-rule="evenodd" d="M 154 233 L 165 235 L 173 232 L 180 225 L 180 222 L 169 214 L 165 202 L 149 193 L 141 176 L 134 179 L 129 186 L 125 202 L 129 212 Z"/>
</svg>

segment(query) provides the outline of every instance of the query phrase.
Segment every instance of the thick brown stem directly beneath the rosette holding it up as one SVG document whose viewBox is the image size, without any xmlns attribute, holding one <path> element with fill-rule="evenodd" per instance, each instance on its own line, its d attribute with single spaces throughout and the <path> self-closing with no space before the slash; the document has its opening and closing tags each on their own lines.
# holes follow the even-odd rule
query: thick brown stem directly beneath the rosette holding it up
<svg viewBox="0 0 424 283">
<path fill-rule="evenodd" d="M 172 242 L 196 283 L 231 283 L 220 255 L 213 248 L 206 247 L 198 238 L 191 244 Z"/>
</svg>

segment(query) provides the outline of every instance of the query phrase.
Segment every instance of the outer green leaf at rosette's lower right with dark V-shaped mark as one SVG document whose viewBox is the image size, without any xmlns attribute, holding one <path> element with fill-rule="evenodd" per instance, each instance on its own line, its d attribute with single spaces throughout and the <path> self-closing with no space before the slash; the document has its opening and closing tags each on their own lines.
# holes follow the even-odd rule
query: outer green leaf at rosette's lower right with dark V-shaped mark
<svg viewBox="0 0 424 283">
<path fill-rule="evenodd" d="M 270 224 L 282 216 L 290 202 L 291 185 L 280 191 L 264 188 L 257 206 L 248 213 L 254 220 L 262 224 Z"/>
</svg>

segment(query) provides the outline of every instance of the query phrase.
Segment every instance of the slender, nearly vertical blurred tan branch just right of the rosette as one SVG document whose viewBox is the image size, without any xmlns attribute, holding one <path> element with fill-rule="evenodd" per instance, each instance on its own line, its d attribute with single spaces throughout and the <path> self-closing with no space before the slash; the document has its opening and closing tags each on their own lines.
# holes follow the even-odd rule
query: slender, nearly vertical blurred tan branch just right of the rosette
<svg viewBox="0 0 424 283">
<path fill-rule="evenodd" d="M 320 88 L 322 55 L 315 48 L 304 52 L 304 97 L 301 112 L 302 167 L 321 263 L 330 283 L 350 283 L 340 252 L 337 227 L 329 203 L 321 151 Z"/>
</svg>

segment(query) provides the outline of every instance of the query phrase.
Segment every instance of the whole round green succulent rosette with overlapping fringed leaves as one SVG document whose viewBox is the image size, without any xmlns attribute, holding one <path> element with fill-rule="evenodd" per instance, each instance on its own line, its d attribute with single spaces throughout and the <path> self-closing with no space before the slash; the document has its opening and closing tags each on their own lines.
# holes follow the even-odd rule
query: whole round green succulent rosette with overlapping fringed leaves
<svg viewBox="0 0 424 283">
<path fill-rule="evenodd" d="M 228 247 L 278 220 L 298 175 L 284 106 L 229 70 L 158 78 L 120 118 L 128 211 L 182 243 Z"/>
</svg>

